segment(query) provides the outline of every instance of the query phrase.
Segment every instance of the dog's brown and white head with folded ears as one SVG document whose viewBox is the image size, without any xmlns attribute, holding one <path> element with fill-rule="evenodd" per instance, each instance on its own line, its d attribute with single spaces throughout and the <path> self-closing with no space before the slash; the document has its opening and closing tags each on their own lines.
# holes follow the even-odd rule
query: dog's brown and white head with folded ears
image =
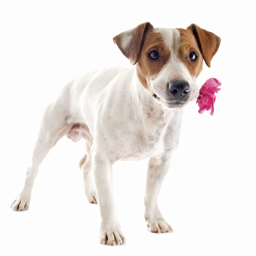
<svg viewBox="0 0 256 256">
<path fill-rule="evenodd" d="M 152 97 L 166 108 L 177 108 L 198 97 L 195 80 L 203 59 L 210 67 L 221 39 L 195 24 L 159 29 L 146 22 L 113 41 L 131 64 L 137 64 L 137 76 Z"/>
</svg>

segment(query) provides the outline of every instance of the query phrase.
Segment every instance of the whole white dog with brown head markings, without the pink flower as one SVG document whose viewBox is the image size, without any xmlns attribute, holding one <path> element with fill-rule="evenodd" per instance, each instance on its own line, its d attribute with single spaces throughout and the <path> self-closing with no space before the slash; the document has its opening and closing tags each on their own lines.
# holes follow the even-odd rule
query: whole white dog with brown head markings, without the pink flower
<svg viewBox="0 0 256 256">
<path fill-rule="evenodd" d="M 179 143 L 183 108 L 197 99 L 195 81 L 203 61 L 210 67 L 221 39 L 195 24 L 162 29 L 146 22 L 113 41 L 135 66 L 93 71 L 64 87 L 46 108 L 24 187 L 11 208 L 29 209 L 38 168 L 58 140 L 64 135 L 74 142 L 83 138 L 86 154 L 79 166 L 88 201 L 99 203 L 100 243 L 120 245 L 125 237 L 113 202 L 112 165 L 150 157 L 145 220 L 151 232 L 172 232 L 157 197 Z"/>
</svg>

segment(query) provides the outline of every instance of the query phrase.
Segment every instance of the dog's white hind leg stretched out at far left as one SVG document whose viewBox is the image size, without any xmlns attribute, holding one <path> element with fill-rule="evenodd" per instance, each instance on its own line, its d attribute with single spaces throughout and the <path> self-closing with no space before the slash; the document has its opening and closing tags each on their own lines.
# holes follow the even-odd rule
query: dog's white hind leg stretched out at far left
<svg viewBox="0 0 256 256">
<path fill-rule="evenodd" d="M 60 107 L 59 102 L 48 106 L 32 152 L 32 162 L 26 172 L 26 180 L 20 195 L 12 203 L 14 211 L 23 211 L 29 208 L 32 187 L 38 168 L 50 151 L 50 149 L 70 130 L 71 125 L 67 125 L 67 113 Z"/>
</svg>

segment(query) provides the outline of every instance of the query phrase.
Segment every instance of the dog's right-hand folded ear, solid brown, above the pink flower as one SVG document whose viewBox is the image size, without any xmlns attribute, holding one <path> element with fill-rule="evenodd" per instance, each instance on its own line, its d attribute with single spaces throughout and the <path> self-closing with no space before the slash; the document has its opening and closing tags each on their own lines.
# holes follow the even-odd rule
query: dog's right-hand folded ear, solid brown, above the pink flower
<svg viewBox="0 0 256 256">
<path fill-rule="evenodd" d="M 189 27 L 187 27 L 187 29 L 192 30 L 198 43 L 198 47 L 203 55 L 204 61 L 207 66 L 210 67 L 211 60 L 220 46 L 221 38 L 212 32 L 201 29 L 195 24 L 191 24 Z"/>
</svg>

